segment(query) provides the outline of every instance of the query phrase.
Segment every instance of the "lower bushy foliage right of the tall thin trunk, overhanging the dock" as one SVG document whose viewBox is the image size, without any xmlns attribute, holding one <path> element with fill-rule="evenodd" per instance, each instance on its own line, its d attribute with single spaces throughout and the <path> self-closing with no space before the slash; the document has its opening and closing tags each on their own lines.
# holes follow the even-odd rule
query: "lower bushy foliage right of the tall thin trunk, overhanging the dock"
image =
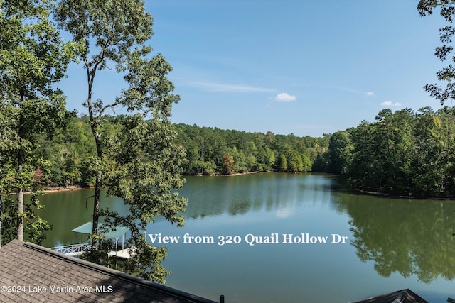
<svg viewBox="0 0 455 303">
<path fill-rule="evenodd" d="M 173 189 L 183 186 L 180 175 L 185 150 L 175 138 L 176 131 L 168 119 L 155 114 L 153 119 L 144 120 L 143 114 L 134 114 L 105 141 L 107 194 L 122 197 L 129 207 L 126 215 L 110 212 L 107 221 L 112 226 L 128 226 L 136 248 L 124 270 L 158 282 L 165 282 L 169 273 L 161 266 L 167 248 L 149 245 L 141 230 L 159 215 L 178 226 L 184 224 L 180 212 L 186 209 L 186 198 Z"/>
</svg>

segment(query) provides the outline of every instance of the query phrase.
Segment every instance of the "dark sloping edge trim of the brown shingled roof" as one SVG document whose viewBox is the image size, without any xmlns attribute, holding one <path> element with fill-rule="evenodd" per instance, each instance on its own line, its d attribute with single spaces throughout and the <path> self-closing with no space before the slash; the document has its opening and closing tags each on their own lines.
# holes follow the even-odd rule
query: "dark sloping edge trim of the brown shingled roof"
<svg viewBox="0 0 455 303">
<path fill-rule="evenodd" d="M 19 242 L 17 239 L 14 239 L 11 242 Z M 138 285 L 144 286 L 144 287 L 150 287 L 154 289 L 155 291 L 158 292 L 164 292 L 166 294 L 172 294 L 175 297 L 181 297 L 182 299 L 186 299 L 189 302 L 200 302 L 200 303 L 218 303 L 210 299 L 205 299 L 203 297 L 199 297 L 196 294 L 190 294 L 188 292 L 183 292 L 181 290 L 176 290 L 175 288 L 168 287 L 165 285 L 161 285 L 156 282 L 148 281 L 141 279 L 140 277 L 135 277 L 134 275 L 129 275 L 127 273 L 121 272 L 119 270 L 114 270 L 112 268 L 107 268 L 102 265 L 98 265 L 95 263 L 88 262 L 86 260 L 81 260 L 75 257 L 70 257 L 68 255 L 64 255 L 63 253 L 58 253 L 54 250 L 51 250 L 50 248 L 45 248 L 43 246 L 39 246 L 38 244 L 35 243 L 30 243 L 30 242 L 21 242 L 23 243 L 23 246 L 27 248 L 31 248 L 33 250 L 38 250 L 41 251 L 42 253 L 52 255 L 55 258 L 59 258 L 62 260 L 65 260 L 66 262 L 69 263 L 74 263 L 76 265 L 83 266 L 85 268 L 90 268 L 92 270 L 97 270 L 99 272 L 103 272 L 105 275 L 110 275 L 112 277 L 117 277 L 123 280 L 128 280 L 129 282 L 134 282 Z M 7 245 L 7 244 L 6 244 Z M 1 248 L 0 248 L 1 249 Z"/>
</svg>

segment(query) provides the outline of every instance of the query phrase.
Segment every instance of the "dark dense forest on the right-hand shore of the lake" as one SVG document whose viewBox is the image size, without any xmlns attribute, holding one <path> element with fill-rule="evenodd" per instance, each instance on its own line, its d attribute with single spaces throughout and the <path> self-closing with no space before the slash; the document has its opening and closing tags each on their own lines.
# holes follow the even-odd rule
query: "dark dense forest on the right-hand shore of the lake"
<svg viewBox="0 0 455 303">
<path fill-rule="evenodd" d="M 384 109 L 375 122 L 333 133 L 314 168 L 348 175 L 355 189 L 454 197 L 454 126 L 454 109 Z"/>
</svg>

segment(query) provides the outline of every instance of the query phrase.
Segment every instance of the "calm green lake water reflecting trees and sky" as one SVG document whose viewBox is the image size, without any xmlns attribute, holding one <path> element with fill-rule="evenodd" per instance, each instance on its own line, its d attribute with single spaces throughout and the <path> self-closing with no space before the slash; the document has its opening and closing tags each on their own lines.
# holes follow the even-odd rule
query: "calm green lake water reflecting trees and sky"
<svg viewBox="0 0 455 303">
<path fill-rule="evenodd" d="M 170 287 L 214 300 L 224 294 L 229 303 L 353 302 L 405 288 L 429 302 L 455 297 L 455 202 L 352 194 L 332 175 L 187 180 L 186 226 L 157 219 L 147 228 L 180 237 L 167 244 Z M 53 224 L 44 246 L 75 243 L 70 230 L 91 220 L 91 195 L 84 189 L 42 197 L 42 216 Z M 123 209 L 117 198 L 103 204 Z M 183 243 L 186 233 L 193 243 Z M 306 242 L 328 238 L 284 243 L 283 235 L 299 242 L 302 233 Z M 346 243 L 331 243 L 333 234 Z M 220 246 L 220 236 L 239 243 Z M 213 243 L 194 243 L 210 237 Z"/>
</svg>

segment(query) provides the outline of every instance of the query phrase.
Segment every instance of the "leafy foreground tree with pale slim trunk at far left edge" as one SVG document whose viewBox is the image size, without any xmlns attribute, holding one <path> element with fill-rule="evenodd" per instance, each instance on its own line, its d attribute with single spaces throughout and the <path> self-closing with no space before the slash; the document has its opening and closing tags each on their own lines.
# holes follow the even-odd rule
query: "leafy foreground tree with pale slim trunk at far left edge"
<svg viewBox="0 0 455 303">
<path fill-rule="evenodd" d="M 63 43 L 49 19 L 51 5 L 51 1 L 0 1 L 0 140 L 6 141 L 1 145 L 5 148 L 1 178 L 9 180 L 18 194 L 17 209 L 10 209 L 16 212 L 19 241 L 23 241 L 24 219 L 32 216 L 24 206 L 23 192 L 35 187 L 38 159 L 33 136 L 53 133 L 65 120 L 65 98 L 54 84 L 65 77 L 74 57 L 75 45 Z M 1 188 L 1 194 L 9 189 Z"/>
</svg>

